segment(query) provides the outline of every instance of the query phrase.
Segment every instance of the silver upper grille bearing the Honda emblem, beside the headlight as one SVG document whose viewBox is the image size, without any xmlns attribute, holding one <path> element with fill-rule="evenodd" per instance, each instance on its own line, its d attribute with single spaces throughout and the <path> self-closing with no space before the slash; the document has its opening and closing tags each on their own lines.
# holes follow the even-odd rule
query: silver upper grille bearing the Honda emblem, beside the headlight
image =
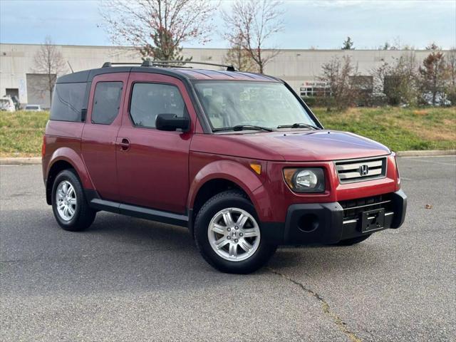
<svg viewBox="0 0 456 342">
<path fill-rule="evenodd" d="M 334 164 L 341 183 L 376 180 L 386 175 L 386 157 L 338 160 Z"/>
</svg>

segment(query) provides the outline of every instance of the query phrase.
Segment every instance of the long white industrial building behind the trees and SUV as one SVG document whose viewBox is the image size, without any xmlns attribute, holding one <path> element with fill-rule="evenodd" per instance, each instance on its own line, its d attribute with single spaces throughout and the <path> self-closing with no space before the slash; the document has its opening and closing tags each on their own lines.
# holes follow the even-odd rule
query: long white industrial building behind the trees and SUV
<svg viewBox="0 0 456 342">
<path fill-rule="evenodd" d="M 37 92 L 36 83 L 45 76 L 37 74 L 34 56 L 40 48 L 35 44 L 0 44 L 0 97 L 17 95 L 22 104 L 38 104 L 49 108 L 49 96 L 42 91 Z M 130 47 L 113 46 L 56 46 L 68 63 L 68 73 L 91 68 L 100 68 L 106 61 L 140 62 L 138 51 Z M 371 70 L 380 66 L 383 61 L 393 61 L 403 53 L 410 51 L 393 50 L 281 50 L 267 64 L 265 73 L 284 79 L 297 92 L 311 94 L 314 81 L 321 74 L 321 66 L 333 56 L 351 56 L 357 64 L 361 75 L 369 75 Z M 185 48 L 182 54 L 193 61 L 222 63 L 227 49 L 224 48 Z M 429 51 L 415 50 L 417 61 L 422 61 Z"/>
</svg>

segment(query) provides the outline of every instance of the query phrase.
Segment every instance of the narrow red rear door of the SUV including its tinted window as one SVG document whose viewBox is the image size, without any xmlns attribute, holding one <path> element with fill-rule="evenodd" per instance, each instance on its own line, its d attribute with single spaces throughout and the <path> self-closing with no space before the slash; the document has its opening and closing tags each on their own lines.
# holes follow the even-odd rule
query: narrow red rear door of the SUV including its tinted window
<svg viewBox="0 0 456 342">
<path fill-rule="evenodd" d="M 95 190 L 103 199 L 119 200 L 115 141 L 129 73 L 95 76 L 90 88 L 82 155 Z"/>
</svg>

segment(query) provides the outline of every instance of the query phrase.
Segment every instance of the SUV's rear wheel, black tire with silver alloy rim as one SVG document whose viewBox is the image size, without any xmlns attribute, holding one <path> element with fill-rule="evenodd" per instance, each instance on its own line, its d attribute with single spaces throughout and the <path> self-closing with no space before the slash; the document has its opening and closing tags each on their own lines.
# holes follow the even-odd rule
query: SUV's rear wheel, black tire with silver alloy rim
<svg viewBox="0 0 456 342">
<path fill-rule="evenodd" d="M 54 217 L 65 230 L 80 232 L 90 227 L 95 219 L 96 212 L 88 206 L 81 182 L 73 169 L 63 170 L 57 175 L 51 200 Z"/>
</svg>

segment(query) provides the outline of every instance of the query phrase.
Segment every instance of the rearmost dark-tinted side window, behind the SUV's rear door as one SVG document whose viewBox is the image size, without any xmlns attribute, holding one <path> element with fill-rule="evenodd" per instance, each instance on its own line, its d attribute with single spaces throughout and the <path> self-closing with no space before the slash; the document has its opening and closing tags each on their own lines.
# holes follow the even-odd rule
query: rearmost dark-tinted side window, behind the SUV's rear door
<svg viewBox="0 0 456 342">
<path fill-rule="evenodd" d="M 87 83 L 57 83 L 51 105 L 51 120 L 81 122 Z"/>
</svg>

